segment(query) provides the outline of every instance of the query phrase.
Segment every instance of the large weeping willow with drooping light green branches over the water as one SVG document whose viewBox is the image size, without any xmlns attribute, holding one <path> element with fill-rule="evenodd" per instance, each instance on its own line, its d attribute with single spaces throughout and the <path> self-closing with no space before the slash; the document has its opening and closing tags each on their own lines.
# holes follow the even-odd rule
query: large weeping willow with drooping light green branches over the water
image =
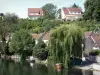
<svg viewBox="0 0 100 75">
<path fill-rule="evenodd" d="M 77 25 L 61 25 L 51 32 L 49 51 L 55 63 L 63 63 L 68 67 L 70 57 L 82 57 L 83 31 Z"/>
</svg>

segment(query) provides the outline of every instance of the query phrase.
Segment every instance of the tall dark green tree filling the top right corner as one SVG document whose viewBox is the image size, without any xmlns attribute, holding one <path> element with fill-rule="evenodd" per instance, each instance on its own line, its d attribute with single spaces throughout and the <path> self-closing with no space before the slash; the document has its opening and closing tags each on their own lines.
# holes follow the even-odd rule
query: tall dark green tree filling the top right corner
<svg viewBox="0 0 100 75">
<path fill-rule="evenodd" d="M 100 20 L 100 0 L 86 0 L 84 19 L 85 20 Z"/>
</svg>

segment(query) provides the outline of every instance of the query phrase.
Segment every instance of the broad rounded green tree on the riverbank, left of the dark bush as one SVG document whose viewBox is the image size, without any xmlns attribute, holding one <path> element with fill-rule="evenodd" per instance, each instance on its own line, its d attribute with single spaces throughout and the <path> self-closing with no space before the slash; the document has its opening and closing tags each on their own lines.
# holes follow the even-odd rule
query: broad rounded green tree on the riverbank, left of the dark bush
<svg viewBox="0 0 100 75">
<path fill-rule="evenodd" d="M 20 54 L 22 58 L 26 58 L 32 54 L 35 40 L 26 30 L 19 30 L 14 33 L 10 43 L 10 52 Z"/>
</svg>

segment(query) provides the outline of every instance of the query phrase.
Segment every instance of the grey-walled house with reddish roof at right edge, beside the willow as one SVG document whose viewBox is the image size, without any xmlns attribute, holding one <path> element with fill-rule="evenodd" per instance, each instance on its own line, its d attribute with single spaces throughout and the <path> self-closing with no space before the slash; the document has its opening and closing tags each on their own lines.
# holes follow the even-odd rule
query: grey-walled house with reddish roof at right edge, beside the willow
<svg viewBox="0 0 100 75">
<path fill-rule="evenodd" d="M 100 49 L 100 33 L 98 32 L 85 32 L 85 53 L 89 54 L 92 50 Z"/>
</svg>

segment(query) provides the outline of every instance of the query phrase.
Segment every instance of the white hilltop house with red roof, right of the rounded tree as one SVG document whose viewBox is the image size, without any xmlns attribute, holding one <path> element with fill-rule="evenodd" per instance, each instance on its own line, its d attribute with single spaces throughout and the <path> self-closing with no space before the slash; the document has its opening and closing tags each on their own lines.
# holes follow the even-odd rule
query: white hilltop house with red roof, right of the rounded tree
<svg viewBox="0 0 100 75">
<path fill-rule="evenodd" d="M 61 19 L 73 21 L 79 18 L 82 18 L 81 8 L 67 7 L 61 9 Z"/>
</svg>

